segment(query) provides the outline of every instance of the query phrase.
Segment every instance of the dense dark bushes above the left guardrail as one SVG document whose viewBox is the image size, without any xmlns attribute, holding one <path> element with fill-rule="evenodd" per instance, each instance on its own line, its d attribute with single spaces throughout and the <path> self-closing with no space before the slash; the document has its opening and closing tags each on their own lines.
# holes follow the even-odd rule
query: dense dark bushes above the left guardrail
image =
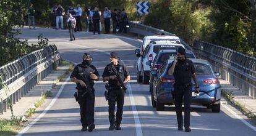
<svg viewBox="0 0 256 136">
<path fill-rule="evenodd" d="M 41 34 L 38 43 L 32 45 L 15 38 L 19 34 L 16 26 L 22 25 L 22 13 L 27 12 L 27 6 L 27 0 L 0 1 L 0 66 L 48 45 L 48 39 L 44 39 Z"/>
</svg>

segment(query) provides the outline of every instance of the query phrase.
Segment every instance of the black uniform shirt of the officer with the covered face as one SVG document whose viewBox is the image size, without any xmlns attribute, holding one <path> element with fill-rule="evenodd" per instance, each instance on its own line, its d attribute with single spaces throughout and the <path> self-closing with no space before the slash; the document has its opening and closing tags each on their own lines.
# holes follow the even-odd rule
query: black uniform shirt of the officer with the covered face
<svg viewBox="0 0 256 136">
<path fill-rule="evenodd" d="M 75 68 L 74 68 L 74 70 L 72 71 L 72 73 L 71 73 L 71 75 L 70 75 L 70 78 L 77 78 L 77 79 L 80 79 L 80 80 L 82 80 L 82 81 L 84 81 L 84 77 L 81 77 L 81 74 L 83 74 L 83 73 L 80 73 L 79 72 L 79 66 L 80 67 L 82 67 L 82 68 L 86 68 L 87 70 L 87 73 L 85 73 L 86 75 L 86 78 L 87 78 L 87 80 L 89 80 L 90 81 L 90 83 L 91 83 L 91 87 L 93 87 L 93 85 L 94 85 L 94 80 L 93 79 L 91 79 L 90 78 L 90 72 L 93 72 L 94 71 L 94 73 L 93 74 L 95 74 L 96 76 L 100 76 L 100 74 L 98 73 L 98 70 L 95 68 L 95 66 L 93 66 L 93 65 L 90 65 L 90 66 L 88 66 L 88 67 L 85 67 L 85 66 L 83 66 L 82 64 L 79 64 L 79 65 L 77 65 L 77 66 L 75 66 Z M 83 75 L 84 76 L 84 75 Z M 85 82 L 85 81 L 84 81 Z M 78 89 L 80 89 L 80 84 L 79 83 L 77 83 L 77 87 L 78 87 Z"/>
</svg>

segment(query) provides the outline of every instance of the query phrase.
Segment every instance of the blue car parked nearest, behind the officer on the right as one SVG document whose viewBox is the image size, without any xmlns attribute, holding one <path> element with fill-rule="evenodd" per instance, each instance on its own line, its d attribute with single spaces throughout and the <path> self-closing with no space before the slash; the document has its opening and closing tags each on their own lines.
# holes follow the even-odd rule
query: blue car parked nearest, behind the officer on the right
<svg viewBox="0 0 256 136">
<path fill-rule="evenodd" d="M 220 73 L 214 73 L 210 63 L 207 60 L 190 59 L 195 66 L 195 74 L 200 87 L 200 94 L 194 92 L 194 81 L 192 80 L 192 100 L 191 105 L 203 105 L 211 108 L 214 113 L 220 112 L 221 107 L 221 86 L 218 81 Z M 164 110 L 164 105 L 174 105 L 174 76 L 168 75 L 168 68 L 173 59 L 163 63 L 161 70 L 152 70 L 155 75 L 153 80 L 153 93 L 151 94 L 151 103 L 156 110 Z"/>
</svg>

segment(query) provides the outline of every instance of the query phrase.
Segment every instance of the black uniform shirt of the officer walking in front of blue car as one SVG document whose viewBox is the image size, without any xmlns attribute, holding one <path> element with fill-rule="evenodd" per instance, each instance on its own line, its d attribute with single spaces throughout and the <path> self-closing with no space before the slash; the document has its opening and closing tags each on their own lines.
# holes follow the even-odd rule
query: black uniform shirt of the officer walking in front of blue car
<svg viewBox="0 0 256 136">
<path fill-rule="evenodd" d="M 175 83 L 178 85 L 189 84 L 194 73 L 195 66 L 192 60 L 187 58 L 184 61 L 178 60 L 173 73 Z"/>
</svg>

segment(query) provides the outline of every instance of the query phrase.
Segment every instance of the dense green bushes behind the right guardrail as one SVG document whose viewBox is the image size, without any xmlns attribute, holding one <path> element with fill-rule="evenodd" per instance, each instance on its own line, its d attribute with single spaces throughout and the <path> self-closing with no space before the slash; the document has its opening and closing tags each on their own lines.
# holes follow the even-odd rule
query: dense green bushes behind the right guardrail
<svg viewBox="0 0 256 136">
<path fill-rule="evenodd" d="M 248 0 L 151 1 L 145 23 L 185 39 L 212 42 L 256 55 L 256 10 Z"/>
</svg>

